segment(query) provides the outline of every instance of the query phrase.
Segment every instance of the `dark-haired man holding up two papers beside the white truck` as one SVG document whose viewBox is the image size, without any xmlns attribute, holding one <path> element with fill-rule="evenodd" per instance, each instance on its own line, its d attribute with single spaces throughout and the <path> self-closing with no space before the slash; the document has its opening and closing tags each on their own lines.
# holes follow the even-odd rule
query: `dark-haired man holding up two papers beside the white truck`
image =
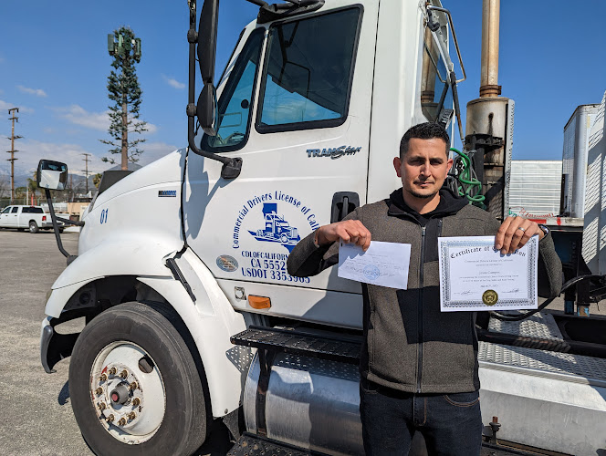
<svg viewBox="0 0 606 456">
<path fill-rule="evenodd" d="M 539 295 L 559 295 L 561 264 L 547 228 L 522 217 L 499 226 L 442 189 L 449 143 L 438 124 L 406 131 L 393 159 L 402 189 L 319 227 L 288 258 L 289 274 L 308 276 L 337 263 L 340 239 L 364 250 L 371 240 L 412 245 L 408 289 L 362 284 L 360 417 L 369 455 L 407 454 L 416 430 L 430 454 L 480 453 L 475 313 L 440 312 L 439 236 L 495 235 L 495 247 L 511 254 L 538 235 Z"/>
</svg>

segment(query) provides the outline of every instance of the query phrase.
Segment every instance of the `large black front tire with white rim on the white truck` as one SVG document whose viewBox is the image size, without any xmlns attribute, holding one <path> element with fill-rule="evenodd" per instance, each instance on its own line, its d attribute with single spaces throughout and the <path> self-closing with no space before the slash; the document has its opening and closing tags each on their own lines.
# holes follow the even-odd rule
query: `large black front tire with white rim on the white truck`
<svg viewBox="0 0 606 456">
<path fill-rule="evenodd" d="M 179 326 L 167 306 L 125 303 L 84 327 L 69 363 L 69 396 L 95 454 L 189 455 L 204 443 L 211 420 L 204 373 Z"/>
</svg>

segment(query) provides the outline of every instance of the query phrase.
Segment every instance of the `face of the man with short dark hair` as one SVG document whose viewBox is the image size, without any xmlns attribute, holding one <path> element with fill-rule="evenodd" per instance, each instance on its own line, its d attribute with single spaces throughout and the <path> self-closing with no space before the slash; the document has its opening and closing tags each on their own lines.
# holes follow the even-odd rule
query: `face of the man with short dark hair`
<svg viewBox="0 0 606 456">
<path fill-rule="evenodd" d="M 432 198 L 440 191 L 446 174 L 453 166 L 453 160 L 446 155 L 446 144 L 439 138 L 412 138 L 408 146 L 402 160 L 399 157 L 393 159 L 393 167 L 402 179 L 404 200 L 407 196 Z"/>
</svg>

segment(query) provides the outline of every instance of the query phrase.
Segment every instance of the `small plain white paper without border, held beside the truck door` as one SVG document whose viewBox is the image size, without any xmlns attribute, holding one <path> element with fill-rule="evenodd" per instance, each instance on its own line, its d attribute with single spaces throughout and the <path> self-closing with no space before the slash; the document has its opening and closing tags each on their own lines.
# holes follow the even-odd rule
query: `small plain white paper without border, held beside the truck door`
<svg viewBox="0 0 606 456">
<path fill-rule="evenodd" d="M 410 263 L 411 244 L 371 241 L 366 252 L 355 244 L 339 244 L 339 276 L 346 279 L 405 290 Z"/>
</svg>

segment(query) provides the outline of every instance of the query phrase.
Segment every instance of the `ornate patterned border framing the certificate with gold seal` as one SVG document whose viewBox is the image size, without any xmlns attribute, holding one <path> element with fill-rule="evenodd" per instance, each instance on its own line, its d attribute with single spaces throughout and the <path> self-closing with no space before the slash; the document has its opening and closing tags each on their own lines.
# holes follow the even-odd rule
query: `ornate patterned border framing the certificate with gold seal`
<svg viewBox="0 0 606 456">
<path fill-rule="evenodd" d="M 507 308 L 507 307 L 515 307 L 520 308 L 520 306 L 525 307 L 536 307 L 537 301 L 537 279 L 536 274 L 537 270 L 535 267 L 530 268 L 530 272 L 528 274 L 528 297 L 523 299 L 500 299 L 497 303 L 497 306 L 486 306 L 481 299 L 477 300 L 454 300 L 451 298 L 451 286 L 450 280 L 450 262 L 448 261 L 448 252 L 452 247 L 486 247 L 487 245 L 492 246 L 494 241 L 479 241 L 474 240 L 473 237 L 470 239 L 461 239 L 455 238 L 449 240 L 447 237 L 441 238 L 440 243 L 440 269 L 442 275 L 442 285 L 440 286 L 440 294 L 442 298 L 442 307 L 444 309 L 465 309 L 469 307 L 486 307 L 486 310 L 491 308 Z M 532 236 L 528 240 L 528 264 L 535 264 L 537 262 L 537 258 L 535 258 L 535 252 L 537 250 L 536 244 L 538 243 L 538 236 Z"/>
</svg>

